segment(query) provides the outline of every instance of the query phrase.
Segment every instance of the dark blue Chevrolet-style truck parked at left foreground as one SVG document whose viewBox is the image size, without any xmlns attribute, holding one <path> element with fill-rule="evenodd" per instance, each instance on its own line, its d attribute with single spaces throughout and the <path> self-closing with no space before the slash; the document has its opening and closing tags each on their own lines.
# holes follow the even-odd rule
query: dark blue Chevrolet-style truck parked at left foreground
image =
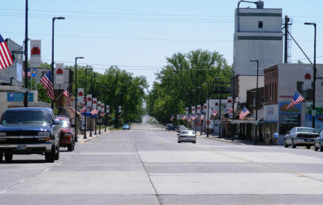
<svg viewBox="0 0 323 205">
<path fill-rule="evenodd" d="M 12 155 L 45 154 L 59 159 L 59 125 L 51 108 L 9 108 L 0 122 L 0 162 Z"/>
</svg>

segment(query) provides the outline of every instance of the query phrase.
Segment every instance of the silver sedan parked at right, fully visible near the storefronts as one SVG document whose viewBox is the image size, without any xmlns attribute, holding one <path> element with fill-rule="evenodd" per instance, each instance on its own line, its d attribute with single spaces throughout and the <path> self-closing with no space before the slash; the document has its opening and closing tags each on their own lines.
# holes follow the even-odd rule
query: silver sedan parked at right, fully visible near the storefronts
<svg viewBox="0 0 323 205">
<path fill-rule="evenodd" d="M 295 127 L 285 135 L 284 146 L 306 146 L 310 149 L 314 145 L 314 139 L 319 136 L 314 128 Z"/>
</svg>

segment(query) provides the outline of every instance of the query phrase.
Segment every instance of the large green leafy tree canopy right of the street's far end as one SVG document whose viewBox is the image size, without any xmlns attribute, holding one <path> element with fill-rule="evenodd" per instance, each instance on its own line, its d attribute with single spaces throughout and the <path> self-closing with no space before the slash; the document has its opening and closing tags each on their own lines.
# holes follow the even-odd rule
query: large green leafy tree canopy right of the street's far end
<svg viewBox="0 0 323 205">
<path fill-rule="evenodd" d="M 178 52 L 166 58 L 167 64 L 157 72 L 155 83 L 147 97 L 146 109 L 161 123 L 170 121 L 175 114 L 184 114 L 185 107 L 206 101 L 216 82 L 229 82 L 232 66 L 218 52 L 193 50 L 186 54 Z M 220 79 L 217 79 L 220 78 Z M 222 96 L 223 97 L 223 96 Z"/>
</svg>

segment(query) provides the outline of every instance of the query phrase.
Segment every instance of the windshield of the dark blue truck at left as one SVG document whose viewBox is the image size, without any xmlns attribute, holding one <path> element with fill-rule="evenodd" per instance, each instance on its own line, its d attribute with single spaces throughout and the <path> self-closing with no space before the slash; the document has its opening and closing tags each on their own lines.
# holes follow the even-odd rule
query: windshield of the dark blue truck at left
<svg viewBox="0 0 323 205">
<path fill-rule="evenodd" d="M 46 110 L 8 110 L 3 114 L 1 124 L 50 124 Z"/>
</svg>

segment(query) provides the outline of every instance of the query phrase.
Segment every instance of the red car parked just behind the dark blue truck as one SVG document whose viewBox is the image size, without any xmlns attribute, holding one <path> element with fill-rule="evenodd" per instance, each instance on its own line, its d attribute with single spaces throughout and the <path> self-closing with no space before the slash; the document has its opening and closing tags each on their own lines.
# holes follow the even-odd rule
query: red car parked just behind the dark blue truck
<svg viewBox="0 0 323 205">
<path fill-rule="evenodd" d="M 59 146 L 67 147 L 71 152 L 75 148 L 75 136 L 70 126 L 70 120 L 67 117 L 57 117 L 61 124 L 59 125 L 60 137 Z"/>
</svg>

